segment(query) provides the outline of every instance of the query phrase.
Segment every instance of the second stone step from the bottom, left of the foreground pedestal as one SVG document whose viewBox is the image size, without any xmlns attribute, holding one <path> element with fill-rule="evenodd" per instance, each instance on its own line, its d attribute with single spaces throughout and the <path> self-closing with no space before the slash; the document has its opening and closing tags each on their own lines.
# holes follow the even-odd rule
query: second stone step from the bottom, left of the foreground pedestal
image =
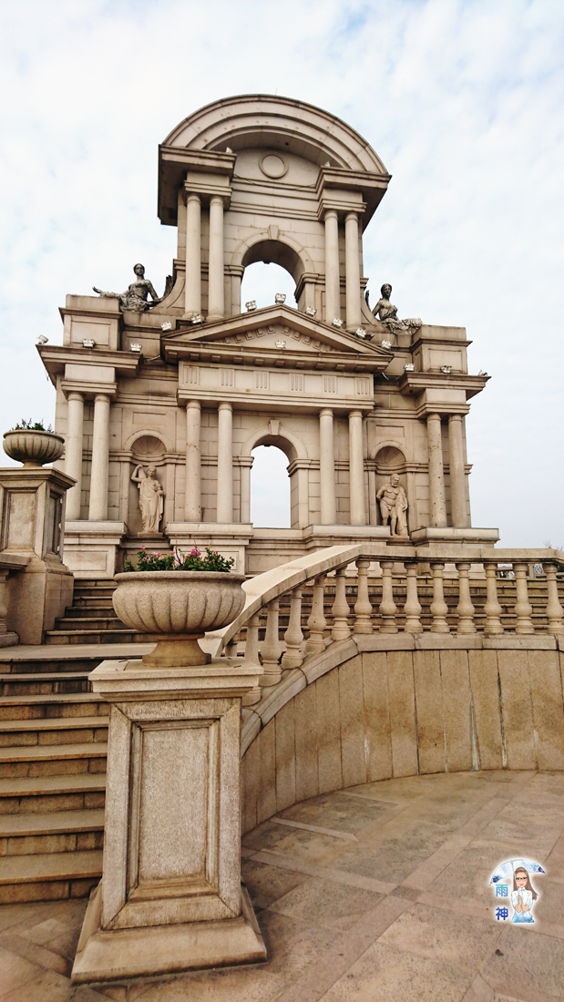
<svg viewBox="0 0 564 1002">
<path fill-rule="evenodd" d="M 46 814 L 0 815 L 0 856 L 36 856 L 101 849 L 104 812 L 52 811 Z"/>
</svg>

